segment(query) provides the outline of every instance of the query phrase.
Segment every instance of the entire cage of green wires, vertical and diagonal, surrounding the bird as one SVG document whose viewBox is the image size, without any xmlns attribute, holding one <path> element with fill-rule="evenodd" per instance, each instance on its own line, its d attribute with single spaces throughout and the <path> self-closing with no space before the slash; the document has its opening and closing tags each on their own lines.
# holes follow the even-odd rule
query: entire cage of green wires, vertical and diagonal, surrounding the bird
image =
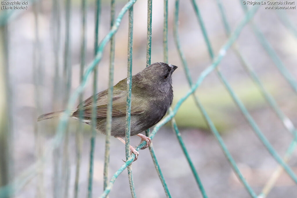
<svg viewBox="0 0 297 198">
<path fill-rule="evenodd" d="M 7 1 L 5 1 L 7 2 Z M 83 91 L 87 86 L 87 81 L 91 78 L 91 75 L 93 75 L 93 113 L 92 113 L 92 134 L 91 134 L 91 141 L 90 141 L 90 153 L 89 153 L 89 176 L 88 176 L 88 190 L 87 190 L 87 197 L 92 197 L 92 189 L 94 188 L 93 185 L 93 175 L 94 175 L 94 147 L 95 147 L 95 140 L 96 140 L 96 126 L 95 126 L 95 114 L 96 114 L 96 93 L 98 91 L 97 85 L 100 79 L 97 79 L 97 72 L 98 72 L 98 64 L 102 60 L 103 51 L 107 48 L 107 46 L 110 44 L 110 55 L 109 55 L 109 76 L 108 76 L 108 113 L 107 113 L 107 124 L 106 124 L 106 139 L 105 139 L 105 159 L 104 159 L 104 173 L 103 173 L 103 181 L 104 181 L 104 191 L 100 195 L 100 197 L 107 197 L 110 191 L 113 188 L 113 184 L 115 183 L 118 176 L 127 168 L 128 170 L 128 179 L 129 179 L 129 186 L 131 191 L 131 196 L 136 197 L 135 193 L 135 187 L 134 187 L 134 181 L 133 181 L 133 175 L 132 175 L 132 162 L 135 159 L 135 155 L 132 153 L 130 154 L 130 113 L 131 113 L 131 87 L 132 87 L 132 45 L 133 45 L 133 5 L 137 2 L 137 0 L 130 0 L 128 1 L 124 7 L 120 10 L 118 15 L 116 16 L 115 11 L 115 0 L 110 1 L 110 31 L 108 34 L 106 34 L 102 40 L 99 40 L 99 25 L 100 21 L 102 21 L 102 10 L 101 10 L 101 0 L 95 0 L 95 39 L 94 39 L 94 58 L 89 63 L 86 64 L 86 38 L 87 38 L 87 1 L 82 0 L 81 1 L 81 13 L 82 13 L 82 28 L 81 28 L 81 52 L 80 52 L 80 84 L 78 87 L 71 93 L 71 80 L 72 80 L 72 66 L 71 66 L 71 27 L 70 27 L 70 18 L 71 18 L 71 7 L 72 7 L 72 1 L 71 0 L 65 0 L 64 2 L 64 14 L 65 14 L 65 37 L 64 37 L 64 63 L 63 63 L 63 69 L 62 69 L 62 78 L 59 78 L 59 74 L 55 73 L 54 78 L 54 90 L 53 90 L 53 98 L 59 98 L 58 95 L 63 93 L 63 99 L 56 100 L 54 102 L 54 109 L 57 109 L 59 106 L 59 103 L 63 103 L 66 107 L 65 113 L 63 117 L 59 120 L 59 124 L 55 130 L 54 137 L 51 139 L 50 144 L 44 149 L 42 152 L 42 145 L 39 142 L 40 140 L 40 129 L 38 129 L 37 124 L 34 126 L 34 138 L 36 141 L 36 152 L 37 152 L 37 161 L 34 162 L 31 166 L 29 166 L 25 171 L 22 172 L 20 175 L 13 175 L 13 171 L 10 170 L 10 167 L 12 166 L 12 157 L 10 156 L 13 148 L 13 144 L 10 144 L 12 142 L 12 102 L 11 102 L 11 95 L 10 95 L 10 85 L 12 79 L 10 79 L 9 75 L 9 54 L 13 53 L 10 52 L 8 49 L 8 31 L 7 27 L 9 26 L 9 23 L 13 18 L 17 17 L 21 14 L 21 12 L 26 12 L 26 10 L 15 10 L 15 9 L 5 9 L 4 12 L 1 12 L 0 15 L 0 34 L 1 34 L 1 87 L 3 87 L 4 91 L 1 96 L 3 102 L 3 105 L 1 106 L 1 142 L 0 142 L 0 155 L 1 155 L 1 170 L 0 170 L 0 182 L 1 182 L 1 188 L 0 188 L 0 197 L 13 197 L 15 194 L 17 194 L 19 191 L 23 189 L 23 187 L 30 182 L 35 177 L 40 177 L 41 172 L 44 169 L 45 164 L 48 162 L 48 156 L 51 155 L 51 153 L 56 153 L 56 155 L 53 156 L 54 158 L 54 180 L 53 180 L 53 195 L 54 197 L 68 197 L 67 194 L 69 187 L 69 156 L 67 153 L 69 153 L 69 114 L 71 113 L 71 110 L 75 106 L 75 103 L 77 100 L 81 103 L 83 101 Z M 279 105 L 277 104 L 276 100 L 272 96 L 272 94 L 268 91 L 268 89 L 263 85 L 260 78 L 258 77 L 257 73 L 253 69 L 252 65 L 249 63 L 249 60 L 245 57 L 244 53 L 241 52 L 241 50 L 238 47 L 237 44 L 237 38 L 239 37 L 242 29 L 249 24 L 249 26 L 252 28 L 252 31 L 254 32 L 257 40 L 259 43 L 263 46 L 265 51 L 270 56 L 271 60 L 279 70 L 279 72 L 282 74 L 284 79 L 287 81 L 287 83 L 293 88 L 294 92 L 297 92 L 297 81 L 296 77 L 292 75 L 292 73 L 286 68 L 285 64 L 279 58 L 276 51 L 271 47 L 270 43 L 264 36 L 264 34 L 260 31 L 260 28 L 257 27 L 255 21 L 253 21 L 253 17 L 256 14 L 257 10 L 259 9 L 260 5 L 256 4 L 251 7 L 248 7 L 246 5 L 247 2 L 240 1 L 240 4 L 242 6 L 242 9 L 244 10 L 244 17 L 238 23 L 236 28 L 234 30 L 231 30 L 230 24 L 227 19 L 227 15 L 225 12 L 225 9 L 223 7 L 223 4 L 220 0 L 216 0 L 215 3 L 217 4 L 217 7 L 219 8 L 220 16 L 222 19 L 223 26 L 225 28 L 225 33 L 228 37 L 227 42 L 225 42 L 224 45 L 219 50 L 218 54 L 214 53 L 214 50 L 211 46 L 210 39 L 208 37 L 208 33 L 206 31 L 206 26 L 204 23 L 204 20 L 201 16 L 198 2 L 195 0 L 191 0 L 192 7 L 195 11 L 195 15 L 197 17 L 198 23 L 200 25 L 202 35 L 209 53 L 209 56 L 211 58 L 211 65 L 206 67 L 203 72 L 199 75 L 198 79 L 196 81 L 192 80 L 189 66 L 187 63 L 187 60 L 185 58 L 184 52 L 182 50 L 182 43 L 179 39 L 178 34 L 178 28 L 179 28 L 179 0 L 175 0 L 174 5 L 174 19 L 173 19 L 173 37 L 175 46 L 179 55 L 179 58 L 181 59 L 182 66 L 184 69 L 184 73 L 187 77 L 187 81 L 189 84 L 189 90 L 187 91 L 187 94 L 185 94 L 183 97 L 178 99 L 178 102 L 172 109 L 169 109 L 168 114 L 157 123 L 157 125 L 154 127 L 154 129 L 150 132 L 149 130 L 146 131 L 146 136 L 150 137 L 151 139 L 154 139 L 155 135 L 159 131 L 159 129 L 164 126 L 166 123 L 171 122 L 173 131 L 176 134 L 176 137 L 178 139 L 178 142 L 181 146 L 181 149 L 187 159 L 187 162 L 190 166 L 190 169 L 192 171 L 192 174 L 195 178 L 195 181 L 198 185 L 198 188 L 201 192 L 202 197 L 206 198 L 208 197 L 208 192 L 203 187 L 203 180 L 200 179 L 198 175 L 198 171 L 196 170 L 196 167 L 189 155 L 189 152 L 187 150 L 186 144 L 183 141 L 183 138 L 181 136 L 181 133 L 178 129 L 177 123 L 175 121 L 175 115 L 177 114 L 179 108 L 181 105 L 189 98 L 193 97 L 195 104 L 201 111 L 203 118 L 205 119 L 210 131 L 213 133 L 214 137 L 217 139 L 217 142 L 222 149 L 223 153 L 225 154 L 225 157 L 228 159 L 230 166 L 232 167 L 234 173 L 238 177 L 238 179 L 241 181 L 242 185 L 248 192 L 250 197 L 261 197 L 264 198 L 268 195 L 268 193 L 273 188 L 274 184 L 276 183 L 277 179 L 281 175 L 283 171 L 285 171 L 290 178 L 297 183 L 297 176 L 296 173 L 292 170 L 290 166 L 288 166 L 287 162 L 290 160 L 290 157 L 296 147 L 296 133 L 297 130 L 293 124 L 293 122 L 290 120 L 290 118 L 281 110 Z M 40 94 L 40 87 L 38 86 L 42 79 L 40 79 L 40 72 L 42 72 L 42 58 L 40 55 L 40 38 L 38 37 L 38 26 L 39 24 L 39 12 L 40 12 L 40 4 L 41 1 L 29 1 L 28 7 L 29 9 L 33 9 L 34 12 L 34 21 L 35 21 L 35 40 L 34 40 L 34 57 L 33 57 L 33 72 L 34 72 L 34 84 L 35 84 L 35 102 L 36 102 L 36 115 L 40 114 L 40 99 L 38 99 L 38 95 Z M 53 45 L 55 46 L 54 49 L 54 58 L 55 58 L 55 69 L 56 71 L 59 70 L 59 53 L 61 53 L 61 21 L 59 18 L 61 17 L 61 2 L 57 0 L 53 0 L 53 25 L 55 28 L 53 28 L 52 36 L 53 36 Z M 249 8 L 249 9 L 248 9 Z M 297 29 L 292 23 L 292 21 L 287 16 L 286 12 L 284 10 L 277 10 L 276 12 L 279 16 L 279 18 L 282 20 L 284 25 L 288 28 L 289 31 L 292 32 L 292 34 L 297 38 Z M 127 106 L 126 106 L 126 136 L 125 136 L 125 154 L 126 154 L 126 162 L 123 163 L 121 167 L 111 176 L 111 178 L 108 177 L 108 168 L 109 168 L 109 159 L 110 159 L 110 131 L 111 131 L 111 118 L 112 118 L 112 93 L 113 93 L 113 76 L 114 76 L 114 60 L 115 60 L 115 34 L 117 33 L 119 26 L 121 25 L 121 21 L 125 14 L 128 15 L 129 18 L 129 25 L 128 25 L 128 62 L 127 62 Z M 152 0 L 147 1 L 147 35 L 146 35 L 146 66 L 149 66 L 151 64 L 151 47 L 152 47 Z M 255 85 L 261 92 L 261 94 L 266 99 L 269 106 L 271 106 L 272 110 L 276 113 L 277 117 L 282 121 L 284 127 L 287 129 L 288 132 L 292 135 L 292 142 L 287 148 L 287 151 L 285 153 L 284 157 L 281 157 L 278 152 L 274 149 L 274 147 L 271 145 L 271 143 L 268 141 L 268 139 L 265 137 L 263 132 L 261 131 L 260 127 L 257 125 L 255 118 L 251 116 L 249 111 L 247 110 L 247 107 L 244 105 L 244 103 L 241 101 L 241 99 L 238 97 L 236 92 L 231 87 L 230 83 L 228 82 L 227 78 L 219 69 L 219 64 L 224 58 L 227 50 L 233 50 L 238 59 L 240 60 L 241 65 L 246 70 L 247 74 L 251 77 L 251 79 L 254 81 Z M 168 63 L 168 0 L 164 0 L 164 21 L 163 21 L 163 61 L 165 63 Z M 252 186 L 247 182 L 245 179 L 245 175 L 242 174 L 240 169 L 238 168 L 238 165 L 236 164 L 236 161 L 233 159 L 233 156 L 231 155 L 230 151 L 228 150 L 225 142 L 223 141 L 221 135 L 219 134 L 219 130 L 215 126 L 214 122 L 212 121 L 211 117 L 209 116 L 206 108 L 203 106 L 202 102 L 198 98 L 198 94 L 195 93 L 197 88 L 201 85 L 203 80 L 210 75 L 211 73 L 216 73 L 219 77 L 219 80 L 222 82 L 222 84 L 225 86 L 226 90 L 230 94 L 231 98 L 233 99 L 234 103 L 238 106 L 241 113 L 246 118 L 247 122 L 257 135 L 257 137 L 260 139 L 260 141 L 263 143 L 263 145 L 266 147 L 268 152 L 271 154 L 271 156 L 277 161 L 279 164 L 278 167 L 274 170 L 274 172 L 271 172 L 271 177 L 267 181 L 266 185 L 263 187 L 260 194 L 257 194 L 256 191 L 252 188 Z M 55 106 L 56 105 L 56 106 Z M 3 116 L 6 115 L 6 116 Z M 80 112 L 80 120 L 82 119 L 82 112 Z M 78 189 L 79 189 L 79 177 L 81 175 L 80 172 L 80 162 L 81 162 L 81 150 L 82 150 L 82 134 L 80 133 L 83 131 L 83 125 L 80 122 L 77 133 L 75 134 L 75 141 L 76 141 L 76 170 L 75 170 L 75 184 L 74 184 L 74 197 L 78 196 Z M 39 143 L 38 143 L 39 142 Z M 146 142 L 141 142 L 137 147 L 136 150 L 139 151 L 144 145 L 146 145 Z M 161 180 L 162 186 L 165 191 L 166 197 L 171 197 L 170 194 L 170 186 L 165 182 L 165 177 L 162 174 L 160 165 L 157 161 L 156 153 L 154 151 L 153 144 L 149 146 L 149 152 L 151 154 L 155 169 L 157 171 L 157 174 L 159 175 L 159 178 Z M 61 154 L 63 153 L 63 154 Z M 61 156 L 63 155 L 63 156 Z M 62 161 L 61 161 L 61 158 Z M 5 160 L 4 160 L 5 159 Z M 64 178 L 64 182 L 66 183 L 65 188 L 66 190 L 63 191 L 61 189 L 61 178 Z M 13 178 L 13 179 L 12 179 Z M 97 187 L 96 187 L 97 188 Z M 40 186 L 40 193 L 42 192 L 42 186 Z M 64 193 L 62 195 L 62 193 Z M 174 197 L 174 195 L 172 195 Z"/>
</svg>

